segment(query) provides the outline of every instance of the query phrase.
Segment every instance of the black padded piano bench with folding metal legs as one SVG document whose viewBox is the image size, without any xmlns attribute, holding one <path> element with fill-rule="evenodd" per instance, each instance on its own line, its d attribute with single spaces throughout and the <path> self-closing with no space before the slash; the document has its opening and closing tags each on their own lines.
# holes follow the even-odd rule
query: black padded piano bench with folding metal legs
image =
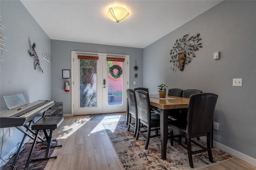
<svg viewBox="0 0 256 170">
<path fill-rule="evenodd" d="M 28 165 L 29 165 L 30 161 L 56 159 L 57 158 L 57 156 L 49 157 L 49 152 L 50 152 L 51 147 L 62 147 L 62 145 L 51 146 L 51 144 L 52 144 L 52 133 L 53 133 L 54 129 L 58 128 L 58 126 L 60 125 L 60 123 L 62 123 L 63 120 L 64 120 L 63 117 L 43 117 L 42 119 L 38 120 L 36 123 L 34 123 L 31 126 L 31 129 L 36 131 L 36 137 L 34 138 L 34 142 L 32 144 L 32 147 L 31 147 L 31 150 L 30 150 L 30 153 L 29 153 L 29 156 L 28 156 L 28 160 L 27 160 L 26 165 L 25 165 L 25 169 L 28 168 Z M 36 158 L 36 159 L 30 160 L 32 152 L 33 152 L 34 147 L 36 145 L 36 140 L 37 140 L 38 133 L 39 133 L 40 130 L 44 131 L 44 135 L 45 135 L 46 140 L 47 140 L 46 153 L 45 153 L 44 158 Z M 47 130 L 50 130 L 49 135 L 47 133 Z"/>
</svg>

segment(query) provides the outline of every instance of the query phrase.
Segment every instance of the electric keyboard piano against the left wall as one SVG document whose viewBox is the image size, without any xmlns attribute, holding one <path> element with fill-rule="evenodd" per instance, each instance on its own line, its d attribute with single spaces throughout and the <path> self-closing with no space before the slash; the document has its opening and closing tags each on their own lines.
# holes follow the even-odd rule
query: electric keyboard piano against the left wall
<svg viewBox="0 0 256 170">
<path fill-rule="evenodd" d="M 0 128 L 24 126 L 36 116 L 52 107 L 54 103 L 55 101 L 38 100 L 0 113 Z"/>
</svg>

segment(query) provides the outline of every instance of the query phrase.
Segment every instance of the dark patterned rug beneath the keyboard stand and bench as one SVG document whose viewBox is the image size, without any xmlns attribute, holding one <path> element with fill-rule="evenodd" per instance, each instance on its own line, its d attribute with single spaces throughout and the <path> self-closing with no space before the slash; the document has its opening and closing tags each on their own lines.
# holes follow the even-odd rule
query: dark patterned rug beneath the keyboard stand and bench
<svg viewBox="0 0 256 170">
<path fill-rule="evenodd" d="M 44 158 L 46 149 L 41 149 L 41 147 L 46 147 L 47 145 L 43 145 L 43 143 L 36 143 L 36 146 L 32 152 L 32 159 L 36 158 Z M 20 153 L 18 160 L 16 161 L 15 168 L 16 170 L 24 170 L 24 167 L 26 165 L 26 161 L 28 159 L 28 155 L 30 152 L 30 149 L 32 147 L 32 143 L 26 143 L 26 146 L 24 147 L 24 150 Z M 54 148 L 50 149 L 49 155 L 52 154 Z M 13 159 L 15 156 L 13 156 L 7 163 L 6 167 L 8 167 L 8 164 L 12 164 Z M 48 160 L 37 160 L 30 162 L 28 169 L 34 169 L 34 168 L 41 168 L 41 170 L 44 170 Z M 8 168 L 9 169 L 9 168 Z M 14 169 L 14 168 L 13 168 Z"/>
</svg>

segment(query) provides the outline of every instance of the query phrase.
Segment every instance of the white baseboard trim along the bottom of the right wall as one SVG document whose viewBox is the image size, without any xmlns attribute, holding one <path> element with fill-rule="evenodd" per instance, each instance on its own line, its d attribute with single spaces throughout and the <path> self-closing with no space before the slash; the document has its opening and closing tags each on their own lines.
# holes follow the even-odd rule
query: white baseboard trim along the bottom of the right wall
<svg viewBox="0 0 256 170">
<path fill-rule="evenodd" d="M 200 137 L 200 139 L 202 139 L 203 141 L 206 141 L 206 137 Z M 221 143 L 218 143 L 216 141 L 213 141 L 213 145 L 214 145 L 214 147 L 217 147 L 218 149 L 228 152 L 229 154 L 232 154 L 233 156 L 236 156 L 237 158 L 244 160 L 245 162 L 252 164 L 253 166 L 256 166 L 256 159 L 254 159 L 246 154 L 238 152 L 237 150 L 234 150 L 230 147 L 222 145 Z"/>
</svg>

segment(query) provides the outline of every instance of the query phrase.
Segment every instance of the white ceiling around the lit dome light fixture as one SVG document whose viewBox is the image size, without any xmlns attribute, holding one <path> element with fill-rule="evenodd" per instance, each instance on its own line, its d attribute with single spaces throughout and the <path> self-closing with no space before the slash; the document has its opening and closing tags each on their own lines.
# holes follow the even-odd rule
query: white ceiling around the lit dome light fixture
<svg viewBox="0 0 256 170">
<path fill-rule="evenodd" d="M 192 20 L 218 0 L 21 0 L 50 39 L 144 48 Z M 130 12 L 115 23 L 108 8 Z"/>
</svg>

